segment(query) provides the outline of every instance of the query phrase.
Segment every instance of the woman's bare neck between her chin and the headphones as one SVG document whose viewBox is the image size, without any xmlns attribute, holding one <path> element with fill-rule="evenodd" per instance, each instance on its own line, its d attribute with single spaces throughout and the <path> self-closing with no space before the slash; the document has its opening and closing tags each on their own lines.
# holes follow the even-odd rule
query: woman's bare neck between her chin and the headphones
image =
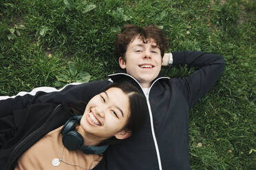
<svg viewBox="0 0 256 170">
<path fill-rule="evenodd" d="M 81 127 L 81 125 L 78 125 L 76 131 L 83 136 L 83 141 L 84 141 L 83 145 L 96 146 L 104 140 L 92 134 L 86 133 Z"/>
</svg>

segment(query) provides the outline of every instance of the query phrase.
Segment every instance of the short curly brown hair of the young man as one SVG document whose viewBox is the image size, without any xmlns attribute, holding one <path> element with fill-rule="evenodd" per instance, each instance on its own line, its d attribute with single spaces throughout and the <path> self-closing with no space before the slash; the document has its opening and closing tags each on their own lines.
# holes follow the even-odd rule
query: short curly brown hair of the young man
<svg viewBox="0 0 256 170">
<path fill-rule="evenodd" d="M 139 36 L 144 43 L 153 40 L 164 56 L 164 51 L 169 49 L 169 38 L 162 34 L 162 30 L 154 25 L 147 27 L 138 27 L 136 25 L 125 25 L 120 33 L 116 34 L 116 57 L 122 57 L 125 60 L 127 45 Z"/>
</svg>

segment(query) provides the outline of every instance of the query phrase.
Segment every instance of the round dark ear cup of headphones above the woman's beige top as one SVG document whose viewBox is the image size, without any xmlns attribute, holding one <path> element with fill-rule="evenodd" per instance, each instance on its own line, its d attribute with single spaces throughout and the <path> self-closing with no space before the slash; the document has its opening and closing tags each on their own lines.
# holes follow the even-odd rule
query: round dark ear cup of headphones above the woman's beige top
<svg viewBox="0 0 256 170">
<path fill-rule="evenodd" d="M 83 136 L 72 130 L 63 134 L 62 143 L 67 149 L 76 150 L 83 146 Z"/>
</svg>

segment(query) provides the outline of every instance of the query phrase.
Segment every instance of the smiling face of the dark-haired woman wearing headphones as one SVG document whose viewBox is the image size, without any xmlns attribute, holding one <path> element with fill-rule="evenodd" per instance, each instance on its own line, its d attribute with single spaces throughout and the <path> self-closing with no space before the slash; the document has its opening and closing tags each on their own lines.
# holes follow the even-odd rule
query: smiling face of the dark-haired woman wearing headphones
<svg viewBox="0 0 256 170">
<path fill-rule="evenodd" d="M 111 136 L 122 139 L 129 133 L 124 129 L 130 115 L 129 98 L 120 88 L 112 87 L 94 96 L 85 108 L 81 129 L 85 136 L 103 141 Z M 127 133 L 127 134 L 126 134 Z"/>
</svg>

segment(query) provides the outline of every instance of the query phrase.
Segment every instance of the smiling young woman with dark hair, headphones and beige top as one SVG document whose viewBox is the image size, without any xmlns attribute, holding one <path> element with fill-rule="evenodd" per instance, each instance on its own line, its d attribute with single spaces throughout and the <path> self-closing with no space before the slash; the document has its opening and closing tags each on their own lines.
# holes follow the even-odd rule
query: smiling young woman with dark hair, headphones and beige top
<svg viewBox="0 0 256 170">
<path fill-rule="evenodd" d="M 83 115 L 67 121 L 70 110 Z M 0 118 L 6 125 L 0 133 L 0 165 L 15 170 L 93 169 L 108 145 L 139 130 L 147 111 L 145 97 L 125 83 L 112 84 L 82 108 L 34 104 L 14 110 Z"/>
</svg>

